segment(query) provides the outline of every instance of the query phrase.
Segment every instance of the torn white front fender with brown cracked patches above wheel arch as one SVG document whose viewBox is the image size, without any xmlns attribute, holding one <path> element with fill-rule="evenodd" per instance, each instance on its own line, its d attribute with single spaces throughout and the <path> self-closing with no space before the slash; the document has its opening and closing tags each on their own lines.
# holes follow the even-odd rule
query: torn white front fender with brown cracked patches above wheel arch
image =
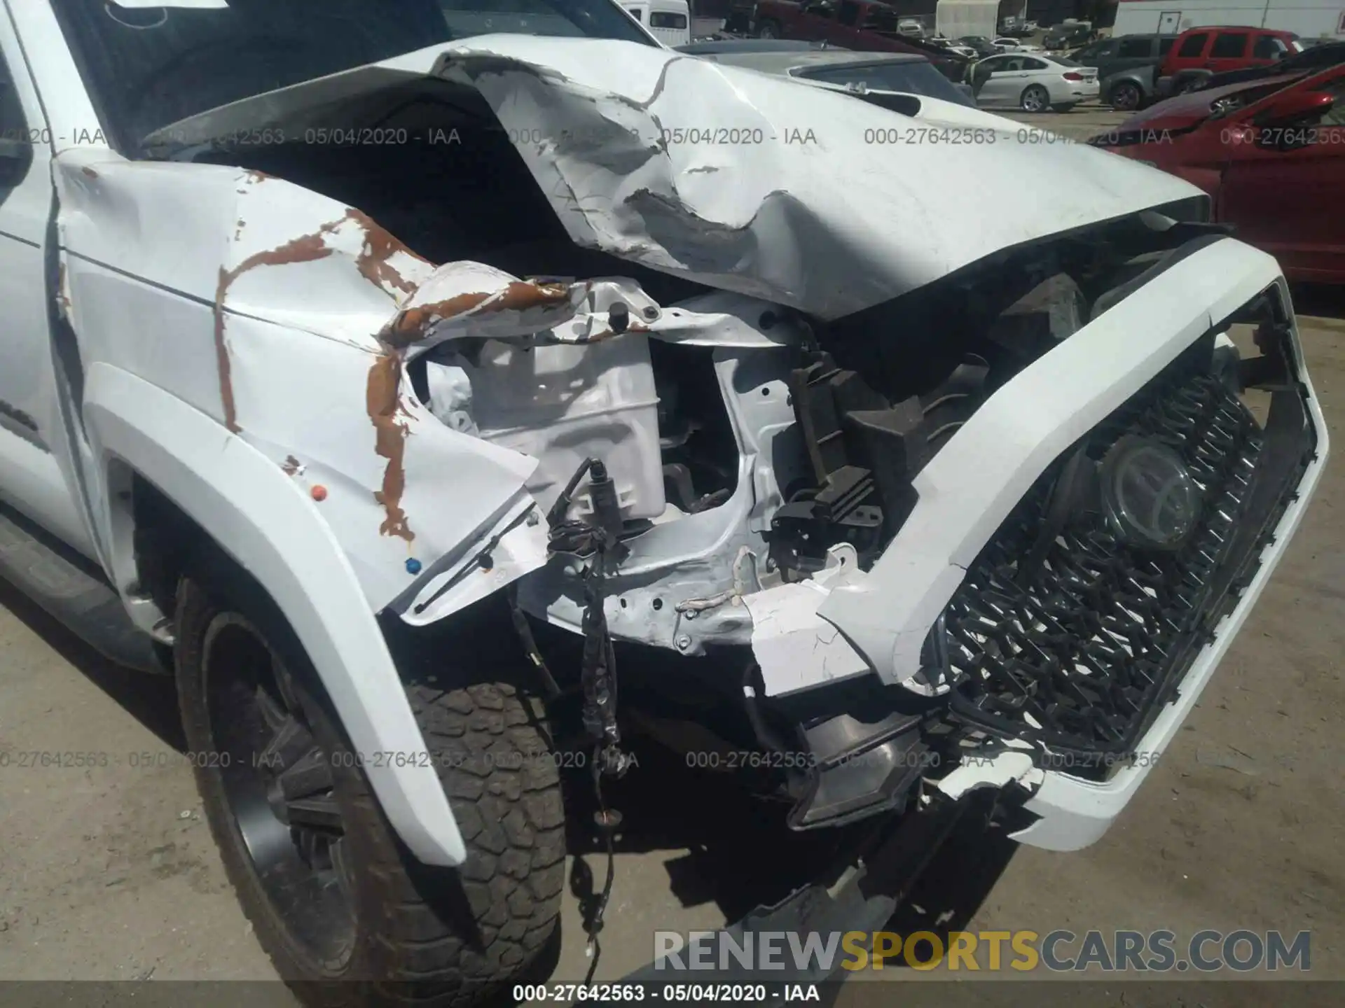
<svg viewBox="0 0 1345 1008">
<path fill-rule="evenodd" d="M 440 423 L 381 339 L 436 270 L 367 216 L 235 168 L 94 151 L 56 164 L 62 306 L 85 367 L 164 388 L 270 457 L 320 503 L 373 610 L 533 505 L 537 461 Z M 529 531 L 510 530 L 496 579 L 545 562 Z"/>
</svg>

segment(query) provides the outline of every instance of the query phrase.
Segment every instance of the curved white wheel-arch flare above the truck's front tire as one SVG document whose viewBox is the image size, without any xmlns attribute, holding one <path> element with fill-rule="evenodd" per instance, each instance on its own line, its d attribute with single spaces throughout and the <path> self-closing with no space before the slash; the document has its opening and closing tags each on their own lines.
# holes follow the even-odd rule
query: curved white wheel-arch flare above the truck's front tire
<svg viewBox="0 0 1345 1008">
<path fill-rule="evenodd" d="M 87 379 L 94 457 L 133 468 L 257 578 L 312 660 L 398 836 L 425 864 L 461 864 L 467 849 L 434 766 L 374 758 L 428 747 L 321 504 L 265 453 L 169 391 L 105 362 Z"/>
</svg>

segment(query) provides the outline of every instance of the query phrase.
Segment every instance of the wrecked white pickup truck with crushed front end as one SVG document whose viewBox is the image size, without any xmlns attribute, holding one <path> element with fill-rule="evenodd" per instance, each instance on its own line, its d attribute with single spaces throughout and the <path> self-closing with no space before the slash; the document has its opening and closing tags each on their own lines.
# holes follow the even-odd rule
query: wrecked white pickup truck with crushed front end
<svg viewBox="0 0 1345 1008">
<path fill-rule="evenodd" d="M 632 747 L 857 866 L 1141 786 L 1326 458 L 1289 290 L 1185 183 L 908 98 L 608 0 L 0 0 L 0 574 L 176 676 L 305 1000 L 525 976 L 561 771 Z M 866 871 L 799 926 L 881 925 Z"/>
</svg>

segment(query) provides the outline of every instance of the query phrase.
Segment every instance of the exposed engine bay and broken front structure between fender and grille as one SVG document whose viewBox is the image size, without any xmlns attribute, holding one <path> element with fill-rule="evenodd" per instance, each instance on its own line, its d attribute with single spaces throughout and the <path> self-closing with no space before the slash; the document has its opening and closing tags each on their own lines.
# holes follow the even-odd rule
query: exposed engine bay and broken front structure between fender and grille
<svg viewBox="0 0 1345 1008">
<path fill-rule="evenodd" d="M 650 300 L 608 292 L 601 332 L 464 325 L 406 364 L 445 426 L 538 460 L 529 491 L 550 512 L 551 560 L 516 598 L 577 637 L 525 630 L 535 661 L 555 669 L 557 695 L 586 692 L 588 727 L 612 743 L 613 766 L 621 653 L 620 723 L 678 751 L 722 753 L 724 769 L 759 750 L 749 775 L 794 805 L 795 828 L 902 806 L 966 745 L 937 727 L 943 702 L 919 695 L 939 691 L 884 687 L 862 664 L 826 691 L 771 689 L 753 657 L 752 597 L 838 563 L 868 570 L 909 515 L 915 477 L 995 390 L 1202 226 L 1115 222 L 827 323 L 576 249 L 529 203 L 537 191 L 503 132 L 475 129 L 406 164 L 398 146 L 226 156 L 369 207 L 434 258 L 490 262 L 473 269 L 496 293 L 573 284 L 558 270 L 576 262 L 639 277 Z M 364 181 L 394 171 L 417 183 Z M 654 290 L 674 300 L 655 305 Z M 573 681 L 580 669 L 596 679 Z"/>
</svg>

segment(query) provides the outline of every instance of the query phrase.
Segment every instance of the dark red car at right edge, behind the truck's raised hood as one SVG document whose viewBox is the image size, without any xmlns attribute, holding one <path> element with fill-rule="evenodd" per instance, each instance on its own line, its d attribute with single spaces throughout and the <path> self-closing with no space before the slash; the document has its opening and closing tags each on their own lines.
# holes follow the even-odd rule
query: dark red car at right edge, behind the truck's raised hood
<svg viewBox="0 0 1345 1008">
<path fill-rule="evenodd" d="M 1345 284 L 1345 66 L 1177 95 L 1088 142 L 1200 185 L 1290 280 Z"/>
</svg>

